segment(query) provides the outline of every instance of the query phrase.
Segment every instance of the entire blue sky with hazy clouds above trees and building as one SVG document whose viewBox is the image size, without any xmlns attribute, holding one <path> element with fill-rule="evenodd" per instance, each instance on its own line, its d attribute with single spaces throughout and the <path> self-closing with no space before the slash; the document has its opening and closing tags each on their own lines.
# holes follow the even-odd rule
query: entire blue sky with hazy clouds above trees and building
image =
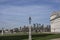
<svg viewBox="0 0 60 40">
<path fill-rule="evenodd" d="M 60 0 L 0 0 L 0 29 L 33 23 L 50 24 L 50 14 L 60 10 Z"/>
</svg>

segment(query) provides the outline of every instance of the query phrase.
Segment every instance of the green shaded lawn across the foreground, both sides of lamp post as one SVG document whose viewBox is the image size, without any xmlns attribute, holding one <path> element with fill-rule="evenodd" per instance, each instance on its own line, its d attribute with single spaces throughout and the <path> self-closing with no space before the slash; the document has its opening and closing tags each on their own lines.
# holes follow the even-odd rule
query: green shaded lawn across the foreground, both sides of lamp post
<svg viewBox="0 0 60 40">
<path fill-rule="evenodd" d="M 60 38 L 60 34 L 51 33 L 35 33 L 32 34 L 32 40 L 50 40 L 54 38 Z M 0 35 L 0 40 L 28 40 L 28 34 L 4 34 Z"/>
</svg>

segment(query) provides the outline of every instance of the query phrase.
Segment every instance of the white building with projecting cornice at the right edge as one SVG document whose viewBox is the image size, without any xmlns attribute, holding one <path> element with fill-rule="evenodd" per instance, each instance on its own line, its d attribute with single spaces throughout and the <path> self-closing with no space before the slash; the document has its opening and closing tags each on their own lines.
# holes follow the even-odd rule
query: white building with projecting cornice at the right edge
<svg viewBox="0 0 60 40">
<path fill-rule="evenodd" d="M 51 32 L 60 32 L 60 12 L 53 12 L 50 16 Z"/>
</svg>

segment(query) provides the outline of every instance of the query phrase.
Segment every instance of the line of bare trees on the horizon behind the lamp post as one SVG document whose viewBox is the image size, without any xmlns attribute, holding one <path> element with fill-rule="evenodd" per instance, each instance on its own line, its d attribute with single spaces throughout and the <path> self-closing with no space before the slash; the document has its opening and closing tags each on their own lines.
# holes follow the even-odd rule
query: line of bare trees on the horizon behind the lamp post
<svg viewBox="0 0 60 40">
<path fill-rule="evenodd" d="M 50 25 L 44 25 L 44 24 L 33 24 L 31 25 L 31 31 L 32 32 L 50 32 L 51 28 Z M 15 32 L 28 32 L 29 26 L 23 26 L 20 28 L 14 28 Z"/>
</svg>

